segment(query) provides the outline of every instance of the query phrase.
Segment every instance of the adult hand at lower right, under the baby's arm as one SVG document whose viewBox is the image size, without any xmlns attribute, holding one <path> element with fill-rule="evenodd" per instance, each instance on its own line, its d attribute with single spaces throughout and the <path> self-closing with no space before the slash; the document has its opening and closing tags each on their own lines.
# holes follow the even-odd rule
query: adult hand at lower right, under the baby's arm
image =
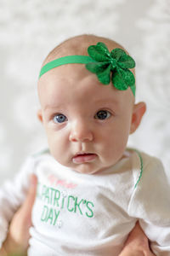
<svg viewBox="0 0 170 256">
<path fill-rule="evenodd" d="M 129 234 L 122 253 L 119 256 L 155 256 L 151 253 L 149 241 L 137 223 Z"/>
</svg>

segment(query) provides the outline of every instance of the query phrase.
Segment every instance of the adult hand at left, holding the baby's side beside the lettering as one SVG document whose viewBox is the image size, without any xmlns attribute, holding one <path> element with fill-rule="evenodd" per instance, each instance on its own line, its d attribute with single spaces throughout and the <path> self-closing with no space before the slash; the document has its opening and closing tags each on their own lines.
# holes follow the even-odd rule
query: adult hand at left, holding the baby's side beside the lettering
<svg viewBox="0 0 170 256">
<path fill-rule="evenodd" d="M 3 247 L 0 250 L 0 256 L 10 255 L 10 253 L 26 255 L 30 238 L 29 229 L 31 227 L 31 210 L 35 201 L 36 192 L 37 177 L 32 174 L 26 200 L 14 214 L 14 218 L 9 225 L 8 236 L 3 242 Z"/>
</svg>

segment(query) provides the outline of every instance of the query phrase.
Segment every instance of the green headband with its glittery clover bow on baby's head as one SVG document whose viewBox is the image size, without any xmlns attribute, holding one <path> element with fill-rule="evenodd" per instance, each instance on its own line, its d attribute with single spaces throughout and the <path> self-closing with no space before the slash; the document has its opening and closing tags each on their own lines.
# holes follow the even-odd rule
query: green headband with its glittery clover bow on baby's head
<svg viewBox="0 0 170 256">
<path fill-rule="evenodd" d="M 50 61 L 42 67 L 39 79 L 54 67 L 71 63 L 86 64 L 88 71 L 96 73 L 102 84 L 110 84 L 112 81 L 117 90 L 130 87 L 135 96 L 135 79 L 129 70 L 135 67 L 135 61 L 123 49 L 112 49 L 110 53 L 106 45 L 99 42 L 88 47 L 88 55 L 69 55 Z"/>
</svg>

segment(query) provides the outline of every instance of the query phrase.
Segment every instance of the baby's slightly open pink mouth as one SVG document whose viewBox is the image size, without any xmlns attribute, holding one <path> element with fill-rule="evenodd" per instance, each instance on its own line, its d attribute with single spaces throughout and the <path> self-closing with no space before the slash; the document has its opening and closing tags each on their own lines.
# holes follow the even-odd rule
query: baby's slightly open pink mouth
<svg viewBox="0 0 170 256">
<path fill-rule="evenodd" d="M 77 153 L 73 156 L 72 161 L 74 164 L 82 164 L 92 162 L 96 159 L 97 154 L 93 153 Z"/>
</svg>

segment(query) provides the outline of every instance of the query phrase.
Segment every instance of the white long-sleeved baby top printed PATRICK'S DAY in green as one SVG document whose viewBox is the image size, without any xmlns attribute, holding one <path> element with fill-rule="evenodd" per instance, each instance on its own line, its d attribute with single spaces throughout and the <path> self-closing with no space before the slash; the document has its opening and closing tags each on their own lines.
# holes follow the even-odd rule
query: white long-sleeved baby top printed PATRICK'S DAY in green
<svg viewBox="0 0 170 256">
<path fill-rule="evenodd" d="M 161 162 L 127 149 L 115 166 L 93 175 L 61 166 L 47 152 L 26 161 L 0 190 L 0 241 L 38 177 L 29 256 L 116 256 L 137 220 L 156 255 L 170 256 L 170 187 Z"/>
</svg>

